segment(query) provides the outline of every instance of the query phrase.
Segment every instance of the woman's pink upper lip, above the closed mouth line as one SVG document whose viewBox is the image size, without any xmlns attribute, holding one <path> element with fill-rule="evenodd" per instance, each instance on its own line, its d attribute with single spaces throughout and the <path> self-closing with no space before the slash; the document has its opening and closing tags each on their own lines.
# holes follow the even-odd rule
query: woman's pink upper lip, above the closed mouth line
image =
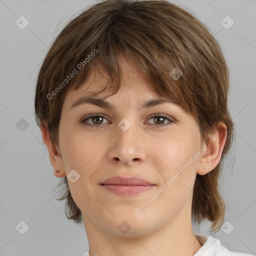
<svg viewBox="0 0 256 256">
<path fill-rule="evenodd" d="M 154 185 L 149 181 L 139 178 L 139 177 L 123 177 L 123 176 L 115 176 L 108 178 L 101 182 L 103 185 Z"/>
</svg>

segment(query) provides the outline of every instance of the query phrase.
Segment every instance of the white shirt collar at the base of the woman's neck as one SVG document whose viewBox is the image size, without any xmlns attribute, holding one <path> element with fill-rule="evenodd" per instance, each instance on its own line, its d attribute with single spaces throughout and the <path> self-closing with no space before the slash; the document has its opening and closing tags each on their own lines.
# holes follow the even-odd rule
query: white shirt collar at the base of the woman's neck
<svg viewBox="0 0 256 256">
<path fill-rule="evenodd" d="M 253 256 L 252 254 L 230 251 L 220 244 L 219 239 L 210 235 L 195 234 L 195 236 L 202 246 L 193 256 Z M 82 256 L 89 256 L 89 250 Z"/>
</svg>

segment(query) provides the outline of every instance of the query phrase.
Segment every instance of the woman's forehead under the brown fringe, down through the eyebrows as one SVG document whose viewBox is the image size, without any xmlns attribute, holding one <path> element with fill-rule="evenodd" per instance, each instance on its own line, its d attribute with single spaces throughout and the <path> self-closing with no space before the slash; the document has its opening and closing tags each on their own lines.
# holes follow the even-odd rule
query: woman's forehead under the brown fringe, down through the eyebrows
<svg viewBox="0 0 256 256">
<path fill-rule="evenodd" d="M 80 86 L 71 88 L 66 94 L 63 108 L 75 109 L 77 105 L 90 103 L 114 112 L 122 106 L 142 109 L 172 103 L 173 109 L 187 112 L 172 93 L 163 93 L 159 85 L 149 82 L 137 64 L 122 56 L 118 62 L 121 69 L 119 86 L 111 83 L 110 75 L 100 68 L 100 63 L 91 65 Z"/>
</svg>

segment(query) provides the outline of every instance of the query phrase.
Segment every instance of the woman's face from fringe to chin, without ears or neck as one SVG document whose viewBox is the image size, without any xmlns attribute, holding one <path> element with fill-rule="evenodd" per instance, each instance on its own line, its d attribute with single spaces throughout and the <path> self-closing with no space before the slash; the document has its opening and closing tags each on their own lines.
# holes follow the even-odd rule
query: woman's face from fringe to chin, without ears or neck
<svg viewBox="0 0 256 256">
<path fill-rule="evenodd" d="M 203 146 L 199 129 L 194 118 L 172 102 L 141 107 L 159 96 L 135 65 L 124 59 L 122 63 L 122 86 L 104 99 L 112 109 L 82 101 L 71 107 L 106 82 L 99 74 L 93 79 L 92 72 L 65 97 L 59 149 L 70 192 L 86 228 L 132 236 L 168 224 L 186 225 L 191 221 L 192 190 Z M 166 117 L 157 118 L 159 114 Z M 142 178 L 151 185 L 104 183 L 116 176 Z"/>
</svg>

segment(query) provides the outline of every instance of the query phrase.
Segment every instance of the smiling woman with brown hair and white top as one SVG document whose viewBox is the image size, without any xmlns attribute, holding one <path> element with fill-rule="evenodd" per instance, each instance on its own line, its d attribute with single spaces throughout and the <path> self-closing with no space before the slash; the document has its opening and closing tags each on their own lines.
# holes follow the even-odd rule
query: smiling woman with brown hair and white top
<svg viewBox="0 0 256 256">
<path fill-rule="evenodd" d="M 71 20 L 38 74 L 36 121 L 86 255 L 248 255 L 212 236 L 233 139 L 228 69 L 206 27 L 165 0 L 105 0 Z"/>
</svg>

